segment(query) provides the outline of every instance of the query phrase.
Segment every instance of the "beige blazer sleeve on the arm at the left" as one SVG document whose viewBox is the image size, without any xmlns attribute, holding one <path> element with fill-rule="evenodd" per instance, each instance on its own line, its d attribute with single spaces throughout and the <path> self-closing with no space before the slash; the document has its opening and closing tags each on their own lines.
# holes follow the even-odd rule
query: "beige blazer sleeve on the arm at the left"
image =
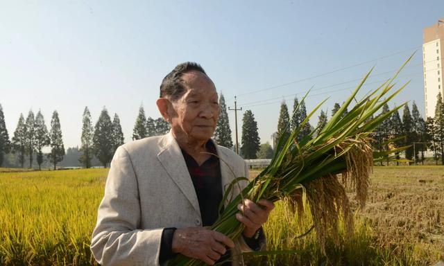
<svg viewBox="0 0 444 266">
<path fill-rule="evenodd" d="M 138 229 L 139 188 L 130 156 L 119 147 L 99 206 L 91 251 L 101 265 L 159 265 L 163 228 Z"/>
</svg>

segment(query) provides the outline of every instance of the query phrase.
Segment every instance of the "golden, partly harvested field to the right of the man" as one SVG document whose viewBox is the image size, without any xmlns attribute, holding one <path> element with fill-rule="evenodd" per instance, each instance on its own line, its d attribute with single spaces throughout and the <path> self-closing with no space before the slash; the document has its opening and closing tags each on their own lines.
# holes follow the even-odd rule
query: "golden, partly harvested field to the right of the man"
<svg viewBox="0 0 444 266">
<path fill-rule="evenodd" d="M 376 167 L 370 181 L 366 208 L 356 210 L 355 236 L 342 234 L 337 247 L 327 242 L 327 256 L 314 231 L 297 238 L 313 224 L 308 213 L 296 220 L 277 204 L 264 227 L 268 249 L 295 254 L 250 258 L 249 265 L 434 265 L 444 256 L 444 167 Z"/>
</svg>

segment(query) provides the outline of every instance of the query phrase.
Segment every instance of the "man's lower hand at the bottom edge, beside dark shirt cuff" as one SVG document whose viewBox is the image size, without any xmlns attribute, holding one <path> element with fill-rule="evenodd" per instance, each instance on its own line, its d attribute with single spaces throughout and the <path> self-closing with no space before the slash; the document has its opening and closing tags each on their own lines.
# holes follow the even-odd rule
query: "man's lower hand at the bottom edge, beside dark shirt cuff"
<svg viewBox="0 0 444 266">
<path fill-rule="evenodd" d="M 234 242 L 223 233 L 205 227 L 176 229 L 173 235 L 173 252 L 197 258 L 208 265 L 214 265 L 225 254 L 225 246 L 233 248 Z"/>
</svg>

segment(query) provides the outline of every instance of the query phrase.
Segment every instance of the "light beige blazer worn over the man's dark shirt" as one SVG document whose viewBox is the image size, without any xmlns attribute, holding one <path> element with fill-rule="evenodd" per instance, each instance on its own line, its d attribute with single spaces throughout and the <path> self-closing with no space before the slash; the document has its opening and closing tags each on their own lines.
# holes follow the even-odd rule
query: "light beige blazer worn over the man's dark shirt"
<svg viewBox="0 0 444 266">
<path fill-rule="evenodd" d="M 224 187 L 234 177 L 248 177 L 244 159 L 218 145 L 216 150 Z M 91 250 L 101 265 L 159 265 L 164 228 L 199 226 L 196 192 L 171 132 L 117 149 L 92 233 Z M 236 242 L 233 265 L 242 265 L 240 252 L 251 250 L 242 238 Z"/>
</svg>

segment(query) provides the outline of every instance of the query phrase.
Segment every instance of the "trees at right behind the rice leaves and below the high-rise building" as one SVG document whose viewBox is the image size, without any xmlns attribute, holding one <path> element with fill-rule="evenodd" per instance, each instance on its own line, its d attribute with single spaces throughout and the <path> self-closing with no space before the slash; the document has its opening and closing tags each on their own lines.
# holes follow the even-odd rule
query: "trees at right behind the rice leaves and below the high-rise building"
<svg viewBox="0 0 444 266">
<path fill-rule="evenodd" d="M 339 103 L 334 103 L 331 116 L 341 108 Z M 286 138 L 288 131 L 294 130 L 302 121 L 307 118 L 307 111 L 305 103 L 298 102 L 298 98 L 294 99 L 293 112 L 290 119 L 287 104 L 283 101 L 280 107 L 280 116 L 278 118 L 278 131 L 275 133 L 275 143 L 278 143 L 280 138 Z M 388 105 L 382 107 L 382 112 L 379 116 L 390 112 Z M 347 110 L 345 113 L 347 114 Z M 315 130 L 315 134 L 321 132 L 327 123 L 327 112 L 321 110 L 318 116 L 318 124 L 312 127 L 308 122 L 304 125 L 298 134 L 298 141 L 305 137 L 310 137 L 311 131 Z M 411 105 L 411 112 L 409 105 L 404 105 L 402 110 L 402 118 L 397 111 L 386 119 L 382 125 L 377 127 L 373 132 L 373 150 L 380 152 L 392 150 L 393 148 L 407 147 L 404 150 L 404 158 L 409 162 L 423 163 L 425 161 L 425 151 L 431 150 L 434 154 L 434 161 L 438 164 L 444 165 L 444 103 L 441 93 L 437 96 L 437 103 L 435 108 L 435 116 L 427 117 L 427 120 L 420 116 L 418 106 L 413 101 Z M 400 159 L 400 152 L 395 153 L 396 159 Z M 388 157 L 386 158 L 388 163 Z"/>
</svg>

